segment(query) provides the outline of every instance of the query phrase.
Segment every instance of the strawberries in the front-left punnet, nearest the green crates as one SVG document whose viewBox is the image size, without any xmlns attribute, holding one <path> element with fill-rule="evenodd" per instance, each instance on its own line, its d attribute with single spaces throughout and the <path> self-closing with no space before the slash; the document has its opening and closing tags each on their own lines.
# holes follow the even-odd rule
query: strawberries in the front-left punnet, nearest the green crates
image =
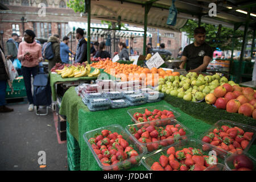
<svg viewBox="0 0 256 182">
<path fill-rule="evenodd" d="M 89 143 L 104 166 L 110 166 L 126 159 L 130 159 L 131 164 L 137 164 L 140 160 L 138 152 L 117 132 L 102 130 L 101 134 L 90 138 Z M 114 171 L 119 169 L 118 166 L 113 167 Z"/>
</svg>

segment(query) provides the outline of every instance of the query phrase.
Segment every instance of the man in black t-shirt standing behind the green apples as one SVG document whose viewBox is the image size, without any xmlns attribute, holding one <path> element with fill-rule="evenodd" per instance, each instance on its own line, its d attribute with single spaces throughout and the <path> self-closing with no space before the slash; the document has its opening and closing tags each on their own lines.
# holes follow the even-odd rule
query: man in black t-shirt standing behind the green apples
<svg viewBox="0 0 256 182">
<path fill-rule="evenodd" d="M 212 60 L 213 49 L 205 43 L 205 34 L 204 27 L 195 28 L 195 42 L 184 48 L 180 69 L 184 69 L 184 65 L 187 63 L 185 69 L 188 72 L 206 72 L 207 66 Z"/>
</svg>

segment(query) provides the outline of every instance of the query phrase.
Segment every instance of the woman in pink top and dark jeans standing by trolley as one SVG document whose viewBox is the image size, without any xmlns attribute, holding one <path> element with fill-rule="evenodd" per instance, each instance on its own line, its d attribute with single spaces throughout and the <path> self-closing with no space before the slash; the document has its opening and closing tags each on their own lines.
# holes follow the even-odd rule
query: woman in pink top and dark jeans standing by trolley
<svg viewBox="0 0 256 182">
<path fill-rule="evenodd" d="M 32 30 L 24 32 L 24 42 L 19 44 L 18 59 L 22 63 L 22 75 L 26 86 L 27 99 L 30 103 L 28 110 L 34 110 L 34 101 L 31 92 L 31 75 L 38 72 L 38 64 L 43 60 L 42 47 L 35 42 L 35 33 Z"/>
</svg>

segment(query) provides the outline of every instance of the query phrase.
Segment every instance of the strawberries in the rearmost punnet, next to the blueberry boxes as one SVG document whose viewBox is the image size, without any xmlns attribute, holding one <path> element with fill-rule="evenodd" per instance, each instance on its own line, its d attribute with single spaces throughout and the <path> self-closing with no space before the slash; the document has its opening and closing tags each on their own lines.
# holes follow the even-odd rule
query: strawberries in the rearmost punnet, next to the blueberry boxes
<svg viewBox="0 0 256 182">
<path fill-rule="evenodd" d="M 134 113 L 133 117 L 138 122 L 147 122 L 147 121 L 155 121 L 159 119 L 166 119 L 166 118 L 175 118 L 174 113 L 170 110 L 158 110 L 154 109 L 154 111 L 150 111 L 148 109 L 145 109 L 145 112 L 142 113 Z"/>
</svg>

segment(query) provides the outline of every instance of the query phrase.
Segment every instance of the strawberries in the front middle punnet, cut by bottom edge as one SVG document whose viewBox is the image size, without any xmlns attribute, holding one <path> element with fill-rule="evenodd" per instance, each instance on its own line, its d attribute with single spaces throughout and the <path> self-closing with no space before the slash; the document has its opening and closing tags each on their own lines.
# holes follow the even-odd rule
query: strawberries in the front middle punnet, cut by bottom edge
<svg viewBox="0 0 256 182">
<path fill-rule="evenodd" d="M 177 151 L 170 147 L 166 153 L 160 156 L 159 162 L 152 164 L 153 171 L 203 171 L 212 162 L 218 162 L 215 156 L 203 155 L 200 149 L 193 147 Z"/>
</svg>

